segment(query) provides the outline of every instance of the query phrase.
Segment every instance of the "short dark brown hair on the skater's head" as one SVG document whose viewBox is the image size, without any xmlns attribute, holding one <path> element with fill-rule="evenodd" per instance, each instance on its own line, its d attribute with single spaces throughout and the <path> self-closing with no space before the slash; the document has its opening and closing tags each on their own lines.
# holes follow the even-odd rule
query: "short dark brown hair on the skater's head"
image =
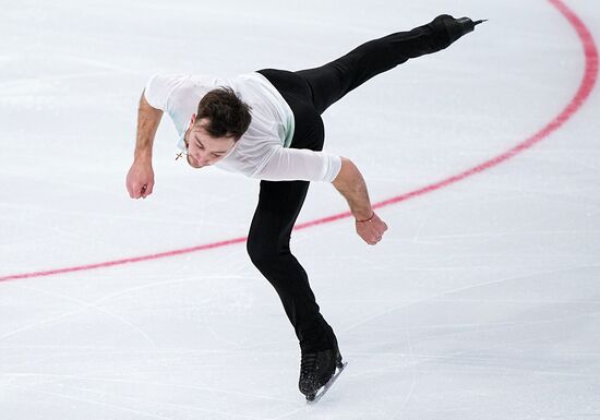
<svg viewBox="0 0 600 420">
<path fill-rule="evenodd" d="M 238 141 L 252 117 L 250 106 L 241 100 L 230 87 L 208 92 L 197 105 L 196 121 L 206 118 L 203 127 L 213 137 L 235 137 Z"/>
</svg>

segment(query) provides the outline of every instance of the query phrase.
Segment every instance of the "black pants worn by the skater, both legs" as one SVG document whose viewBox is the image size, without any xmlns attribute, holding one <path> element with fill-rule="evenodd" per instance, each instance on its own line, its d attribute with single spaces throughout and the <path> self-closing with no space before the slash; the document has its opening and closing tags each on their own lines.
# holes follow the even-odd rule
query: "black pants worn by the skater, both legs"
<svg viewBox="0 0 600 420">
<path fill-rule="evenodd" d="M 293 112 L 296 130 L 290 147 L 321 151 L 325 139 L 321 113 L 332 104 L 376 74 L 448 45 L 443 26 L 428 24 L 365 43 L 320 68 L 259 72 L 279 91 Z M 248 253 L 279 295 L 302 350 L 320 351 L 333 347 L 334 332 L 321 315 L 307 273 L 289 248 L 308 190 L 307 181 L 261 182 Z"/>
</svg>

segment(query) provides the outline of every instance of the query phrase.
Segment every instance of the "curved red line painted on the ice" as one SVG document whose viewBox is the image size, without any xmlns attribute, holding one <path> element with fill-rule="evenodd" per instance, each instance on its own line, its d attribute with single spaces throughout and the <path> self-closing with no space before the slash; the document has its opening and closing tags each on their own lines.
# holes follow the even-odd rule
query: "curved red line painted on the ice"
<svg viewBox="0 0 600 420">
<path fill-rule="evenodd" d="M 554 131 L 559 130 L 566 121 L 568 121 L 581 108 L 586 99 L 589 97 L 590 93 L 593 91 L 593 86 L 598 77 L 598 49 L 596 47 L 596 43 L 593 41 L 593 37 L 589 33 L 584 22 L 571 9 L 568 9 L 567 5 L 562 0 L 549 0 L 549 2 L 564 15 L 564 17 L 577 32 L 577 35 L 579 36 L 579 40 L 581 41 L 581 45 L 584 47 L 584 56 L 586 59 L 586 68 L 584 72 L 584 77 L 581 80 L 581 84 L 579 85 L 579 88 L 575 93 L 575 96 L 571 99 L 571 101 L 562 110 L 562 112 L 559 113 L 556 117 L 554 117 L 545 127 L 543 127 L 536 134 L 531 135 L 529 139 L 525 140 L 524 142 L 517 144 L 509 151 L 490 160 L 487 160 L 478 166 L 467 169 L 460 173 L 457 173 L 451 178 L 437 181 L 435 183 L 429 184 L 427 187 L 423 187 L 415 191 L 410 191 L 403 195 L 398 195 L 393 199 L 379 202 L 373 205 L 373 208 L 385 207 L 392 204 L 400 203 L 400 202 L 440 190 L 442 188 L 452 185 L 455 182 L 461 181 L 465 178 L 471 177 L 473 175 L 483 172 L 487 169 L 493 168 L 508 160 L 509 158 L 518 155 L 519 153 L 523 153 L 524 151 L 530 148 L 531 146 L 539 143 L 543 139 L 548 137 Z M 348 218 L 350 216 L 351 216 L 350 212 L 339 213 L 333 216 L 323 217 L 316 220 L 299 224 L 296 226 L 295 230 L 305 229 L 316 225 L 328 224 L 335 220 Z M 243 243 L 245 242 L 245 240 L 247 240 L 245 237 L 241 237 L 241 238 L 235 238 L 235 239 L 229 239 L 229 240 L 214 242 L 214 243 L 207 243 L 199 247 L 161 252 L 161 253 L 152 254 L 152 255 L 135 256 L 135 257 L 109 261 L 109 262 L 97 263 L 97 264 L 87 264 L 87 265 L 80 265 L 75 267 L 48 269 L 48 271 L 35 272 L 35 273 L 5 275 L 0 277 L 0 281 L 44 277 L 44 276 L 51 276 L 56 274 L 83 272 L 83 271 L 89 271 L 95 268 L 106 268 L 115 265 L 141 263 L 143 261 L 158 260 L 158 259 L 164 259 L 168 256 L 176 256 L 181 254 L 188 254 L 191 252 L 206 251 L 206 250 L 213 250 L 215 248 Z"/>
</svg>

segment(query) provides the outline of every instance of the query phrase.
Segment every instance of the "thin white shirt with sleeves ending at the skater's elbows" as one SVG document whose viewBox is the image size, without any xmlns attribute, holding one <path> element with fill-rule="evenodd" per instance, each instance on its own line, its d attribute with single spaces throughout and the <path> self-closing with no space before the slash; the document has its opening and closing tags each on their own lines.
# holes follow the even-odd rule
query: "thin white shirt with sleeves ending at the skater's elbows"
<svg viewBox="0 0 600 420">
<path fill-rule="evenodd" d="M 183 135 L 200 99 L 209 91 L 231 87 L 251 107 L 252 121 L 233 148 L 214 166 L 269 181 L 332 182 L 341 169 L 341 158 L 323 152 L 289 148 L 295 119 L 281 94 L 260 73 L 233 79 L 206 75 L 155 74 L 145 87 L 147 103 L 167 112 L 179 133 L 178 146 L 184 149 Z"/>
</svg>

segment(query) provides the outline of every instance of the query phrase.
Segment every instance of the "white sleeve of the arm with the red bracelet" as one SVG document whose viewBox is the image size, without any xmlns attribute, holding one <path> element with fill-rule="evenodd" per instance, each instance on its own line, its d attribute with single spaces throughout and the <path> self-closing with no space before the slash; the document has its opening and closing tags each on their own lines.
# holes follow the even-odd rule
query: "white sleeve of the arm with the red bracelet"
<svg viewBox="0 0 600 420">
<path fill-rule="evenodd" d="M 333 182 L 341 169 L 341 157 L 305 148 L 274 147 L 266 164 L 253 178 L 266 181 Z"/>
</svg>

